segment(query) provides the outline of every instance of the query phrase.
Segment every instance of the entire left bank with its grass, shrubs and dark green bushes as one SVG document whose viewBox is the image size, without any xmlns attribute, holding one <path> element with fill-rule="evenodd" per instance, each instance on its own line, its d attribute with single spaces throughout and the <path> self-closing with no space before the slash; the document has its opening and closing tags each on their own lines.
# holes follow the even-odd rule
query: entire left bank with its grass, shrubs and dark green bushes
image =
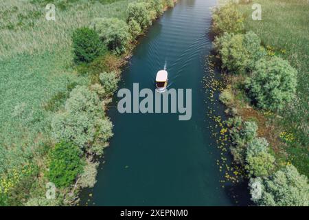
<svg viewBox="0 0 309 220">
<path fill-rule="evenodd" d="M 41 19 L 42 6 L 46 3 L 33 0 L 25 5 L 19 5 L 18 1 L 2 5 L 3 39 L 14 37 L 19 41 L 12 47 L 10 43 L 14 42 L 8 40 L 0 48 L 0 66 L 7 74 L 3 77 L 10 80 L 10 71 L 14 77 L 21 76 L 21 72 L 31 77 L 42 72 L 50 75 L 38 82 L 23 79 L 24 83 L 38 87 L 34 89 L 36 93 L 47 94 L 40 96 L 41 102 L 35 102 L 36 107 L 26 110 L 32 100 L 8 103 L 13 106 L 14 115 L 5 115 L 4 122 L 13 130 L 1 136 L 1 206 L 72 206 L 78 204 L 80 189 L 94 186 L 99 159 L 113 136 L 113 124 L 106 116 L 106 109 L 117 90 L 121 68 L 130 58 L 138 37 L 144 35 L 165 10 L 174 7 L 176 1 L 76 0 L 68 3 L 58 0 L 54 1 L 60 10 L 57 23 Z M 26 13 L 21 12 L 21 7 Z M 82 16 L 76 17 L 74 10 Z M 65 32 L 59 30 L 57 24 L 67 25 L 61 27 Z M 57 35 L 48 28 L 56 28 Z M 41 35 L 34 39 L 33 34 L 38 30 Z M 21 32 L 24 39 L 18 39 Z M 60 36 L 62 41 L 47 39 L 48 34 Z M 25 39 L 28 41 L 21 45 Z M 16 69 L 16 63 L 25 65 L 21 67 L 23 71 Z M 32 73 L 33 70 L 36 72 Z M 55 85 L 50 87 L 49 83 Z M 36 99 L 36 94 L 24 90 L 21 93 Z M 9 90 L 8 94 L 12 92 Z M 22 98 L 18 96 L 16 99 Z M 16 118 L 16 122 L 10 121 Z M 22 129 L 23 126 L 29 131 Z M 7 140 L 14 132 L 18 134 L 15 138 L 21 141 Z M 47 186 L 48 182 L 52 185 Z"/>
</svg>

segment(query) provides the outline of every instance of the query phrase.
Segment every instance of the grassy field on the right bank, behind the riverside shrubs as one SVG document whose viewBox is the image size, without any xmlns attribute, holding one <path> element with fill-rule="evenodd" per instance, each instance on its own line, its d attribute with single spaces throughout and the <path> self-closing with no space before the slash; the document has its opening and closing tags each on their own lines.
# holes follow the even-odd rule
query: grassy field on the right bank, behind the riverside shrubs
<svg viewBox="0 0 309 220">
<path fill-rule="evenodd" d="M 258 0 L 262 21 L 251 19 L 252 3 L 239 4 L 246 30 L 252 30 L 273 54 L 288 60 L 298 71 L 297 97 L 275 123 L 293 133 L 295 140 L 281 146 L 300 173 L 309 176 L 309 3 L 306 0 Z"/>
</svg>

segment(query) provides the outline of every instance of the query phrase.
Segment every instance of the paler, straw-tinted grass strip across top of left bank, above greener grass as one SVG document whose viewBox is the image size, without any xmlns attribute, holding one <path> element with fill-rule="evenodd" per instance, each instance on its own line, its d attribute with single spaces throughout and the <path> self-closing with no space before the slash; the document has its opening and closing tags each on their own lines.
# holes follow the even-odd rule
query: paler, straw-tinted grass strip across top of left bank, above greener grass
<svg viewBox="0 0 309 220">
<path fill-rule="evenodd" d="M 95 17 L 125 20 L 126 5 L 130 1 L 101 4 L 80 0 L 67 10 L 60 10 L 56 4 L 56 21 L 45 19 L 45 5 L 19 0 L 0 1 L 0 13 L 5 14 L 0 19 L 0 61 L 17 54 L 71 50 L 73 30 L 89 25 Z"/>
</svg>

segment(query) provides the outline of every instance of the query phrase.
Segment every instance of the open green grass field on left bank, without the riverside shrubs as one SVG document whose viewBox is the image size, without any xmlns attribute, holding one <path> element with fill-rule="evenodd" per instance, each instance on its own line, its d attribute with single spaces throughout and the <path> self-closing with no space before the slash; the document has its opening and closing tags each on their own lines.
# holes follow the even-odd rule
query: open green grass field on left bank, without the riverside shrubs
<svg viewBox="0 0 309 220">
<path fill-rule="evenodd" d="M 130 1 L 134 0 L 54 1 L 56 21 L 45 20 L 47 1 L 0 1 L 1 178 L 21 164 L 45 168 L 40 152 L 52 145 L 49 129 L 54 111 L 73 87 L 90 83 L 73 66 L 71 33 L 95 17 L 126 20 Z M 27 189 L 17 185 L 14 190 L 24 195 L 19 200 L 45 192 L 44 181 L 36 176 Z"/>
</svg>

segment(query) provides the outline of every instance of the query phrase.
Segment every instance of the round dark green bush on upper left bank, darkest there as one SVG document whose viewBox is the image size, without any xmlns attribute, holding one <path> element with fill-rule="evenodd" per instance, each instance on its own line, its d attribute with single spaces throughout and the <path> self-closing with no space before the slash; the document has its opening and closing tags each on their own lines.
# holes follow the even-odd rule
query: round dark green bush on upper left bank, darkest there
<svg viewBox="0 0 309 220">
<path fill-rule="evenodd" d="M 104 53 L 106 48 L 98 33 L 89 28 L 78 28 L 73 32 L 73 52 L 76 63 L 90 63 Z"/>
</svg>

